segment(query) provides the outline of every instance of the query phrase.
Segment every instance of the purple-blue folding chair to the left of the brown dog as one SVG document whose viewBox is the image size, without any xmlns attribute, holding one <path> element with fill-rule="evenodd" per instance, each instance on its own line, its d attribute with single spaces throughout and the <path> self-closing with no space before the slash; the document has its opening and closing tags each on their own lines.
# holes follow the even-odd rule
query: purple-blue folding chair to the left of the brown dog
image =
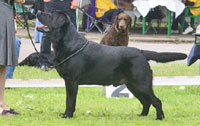
<svg viewBox="0 0 200 126">
<path fill-rule="evenodd" d="M 112 23 L 107 21 L 106 16 L 97 18 L 95 15 L 95 11 L 97 9 L 98 8 L 96 8 L 96 6 L 95 6 L 95 0 L 90 0 L 90 4 L 89 4 L 87 12 L 84 11 L 83 9 L 79 8 L 79 10 L 82 11 L 87 16 L 86 32 L 90 32 L 93 28 L 96 27 L 98 29 L 98 31 L 103 34 L 109 29 L 109 26 Z M 105 25 L 106 28 L 105 27 L 101 28 L 99 26 L 100 23 Z"/>
</svg>

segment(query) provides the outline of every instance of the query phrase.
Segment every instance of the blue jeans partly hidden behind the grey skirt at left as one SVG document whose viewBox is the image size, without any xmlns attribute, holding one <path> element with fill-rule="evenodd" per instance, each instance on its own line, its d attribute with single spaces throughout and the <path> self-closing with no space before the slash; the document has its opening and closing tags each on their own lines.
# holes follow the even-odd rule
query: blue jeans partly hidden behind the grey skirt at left
<svg viewBox="0 0 200 126">
<path fill-rule="evenodd" d="M 21 41 L 18 37 L 15 37 L 15 45 L 16 45 L 16 53 L 17 58 L 19 58 L 19 51 L 21 46 Z M 15 66 L 6 66 L 6 78 L 12 79 L 13 78 L 13 72 L 15 70 Z"/>
</svg>

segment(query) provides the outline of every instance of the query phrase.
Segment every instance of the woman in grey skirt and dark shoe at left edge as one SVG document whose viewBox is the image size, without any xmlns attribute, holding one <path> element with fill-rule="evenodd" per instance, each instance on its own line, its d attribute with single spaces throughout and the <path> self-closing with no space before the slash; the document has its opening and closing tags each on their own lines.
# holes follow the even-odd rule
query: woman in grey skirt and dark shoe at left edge
<svg viewBox="0 0 200 126">
<path fill-rule="evenodd" d="M 15 0 L 21 4 L 25 0 Z M 17 55 L 15 48 L 15 25 L 13 5 L 14 1 L 0 0 L 0 114 L 17 115 L 18 113 L 7 107 L 4 99 L 4 89 L 6 82 L 6 66 L 16 66 Z"/>
</svg>

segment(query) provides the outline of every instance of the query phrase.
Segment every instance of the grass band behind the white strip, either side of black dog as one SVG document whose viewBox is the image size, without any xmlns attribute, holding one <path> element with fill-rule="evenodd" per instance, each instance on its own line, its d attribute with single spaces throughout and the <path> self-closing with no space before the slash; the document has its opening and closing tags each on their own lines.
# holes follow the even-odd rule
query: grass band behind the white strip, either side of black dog
<svg viewBox="0 0 200 126">
<path fill-rule="evenodd" d="M 194 64 L 190 67 L 183 63 L 166 63 L 166 64 L 152 64 L 151 68 L 153 70 L 154 76 L 197 76 L 199 74 L 199 65 Z M 52 79 L 60 78 L 55 69 L 48 72 L 41 71 L 34 67 L 16 67 L 14 78 L 21 79 Z"/>
</svg>

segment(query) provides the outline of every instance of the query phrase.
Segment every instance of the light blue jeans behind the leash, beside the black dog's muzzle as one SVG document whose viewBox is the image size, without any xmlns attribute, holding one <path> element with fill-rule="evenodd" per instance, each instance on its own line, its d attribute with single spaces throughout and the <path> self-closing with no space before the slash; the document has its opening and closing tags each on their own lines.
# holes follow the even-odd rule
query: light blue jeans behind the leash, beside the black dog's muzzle
<svg viewBox="0 0 200 126">
<path fill-rule="evenodd" d="M 35 24 L 35 33 L 34 33 L 34 40 L 36 43 L 41 43 L 42 42 L 42 36 L 43 33 L 39 32 L 36 27 L 42 25 L 41 22 L 38 20 L 38 18 L 36 18 L 36 24 Z"/>
</svg>

